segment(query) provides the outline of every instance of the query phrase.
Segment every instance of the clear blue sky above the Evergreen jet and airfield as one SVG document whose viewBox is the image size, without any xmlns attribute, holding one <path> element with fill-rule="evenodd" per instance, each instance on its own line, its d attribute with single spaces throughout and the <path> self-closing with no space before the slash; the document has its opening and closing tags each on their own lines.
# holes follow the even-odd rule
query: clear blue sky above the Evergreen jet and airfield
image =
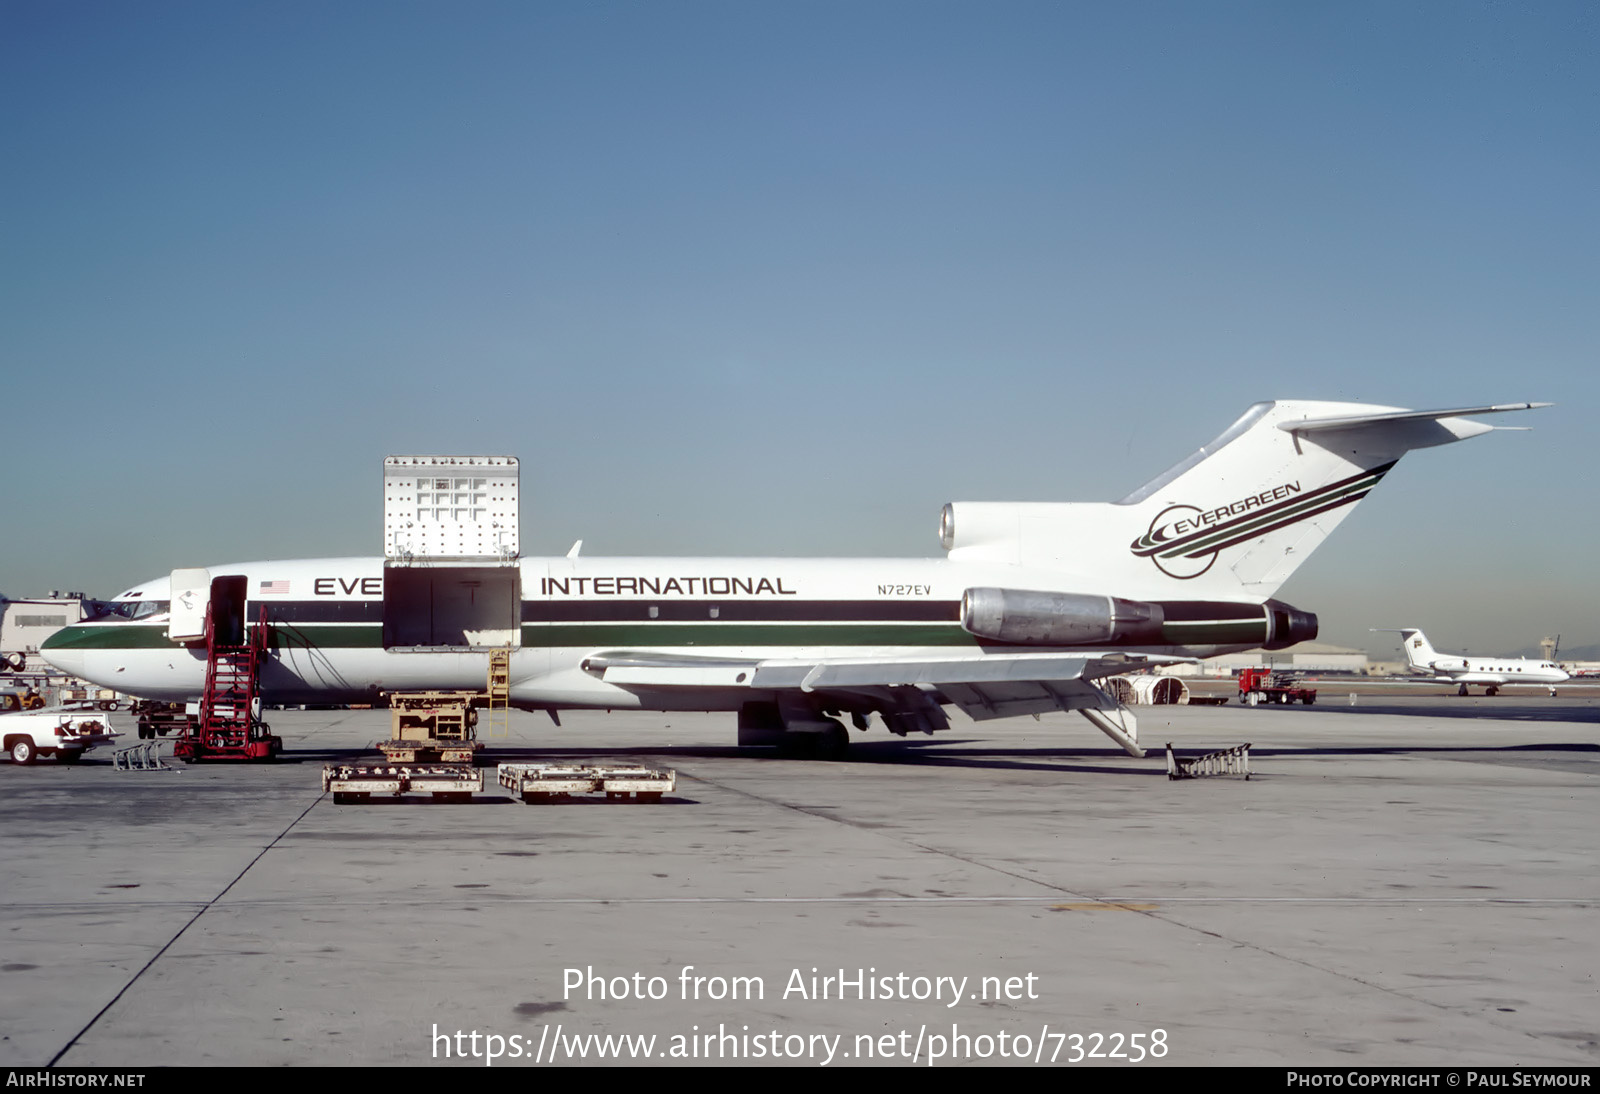
<svg viewBox="0 0 1600 1094">
<path fill-rule="evenodd" d="M 1552 400 L 1408 457 L 1323 637 L 1600 641 L 1586 3 L 0 6 L 0 590 L 523 547 L 938 553 L 1261 398 Z M 1506 422 L 1510 424 L 1510 422 Z M 1370 638 L 1374 641 L 1370 643 Z"/>
</svg>

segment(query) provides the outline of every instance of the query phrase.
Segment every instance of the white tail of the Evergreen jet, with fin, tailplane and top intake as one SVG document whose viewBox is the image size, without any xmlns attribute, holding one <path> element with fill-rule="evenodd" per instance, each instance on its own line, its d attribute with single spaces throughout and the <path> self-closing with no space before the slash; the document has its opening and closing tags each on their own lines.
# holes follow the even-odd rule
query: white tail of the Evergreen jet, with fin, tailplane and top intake
<svg viewBox="0 0 1600 1094">
<path fill-rule="evenodd" d="M 1118 502 L 946 507 L 954 560 L 1082 574 L 1118 595 L 1266 600 L 1395 462 L 1493 425 L 1365 403 L 1256 403 L 1221 437 Z"/>
</svg>

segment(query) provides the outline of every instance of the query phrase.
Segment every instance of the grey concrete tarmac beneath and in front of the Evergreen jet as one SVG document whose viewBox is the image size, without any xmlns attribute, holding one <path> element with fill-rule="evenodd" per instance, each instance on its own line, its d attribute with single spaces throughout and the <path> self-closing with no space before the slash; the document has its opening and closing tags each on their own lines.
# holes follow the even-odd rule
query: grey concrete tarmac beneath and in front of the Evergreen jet
<svg viewBox="0 0 1600 1094">
<path fill-rule="evenodd" d="M 661 805 L 334 805 L 382 710 L 272 712 L 275 765 L 0 763 L 0 1065 L 1600 1060 L 1600 697 L 1139 715 L 1142 761 L 1059 713 L 490 742 L 675 768 Z"/>
</svg>

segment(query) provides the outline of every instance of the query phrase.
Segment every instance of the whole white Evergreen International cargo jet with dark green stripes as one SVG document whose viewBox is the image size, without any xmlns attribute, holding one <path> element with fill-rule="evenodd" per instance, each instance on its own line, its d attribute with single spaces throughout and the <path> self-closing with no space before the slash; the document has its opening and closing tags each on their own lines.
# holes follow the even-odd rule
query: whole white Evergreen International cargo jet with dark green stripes
<svg viewBox="0 0 1600 1094">
<path fill-rule="evenodd" d="M 1533 406 L 1547 403 L 1256 403 L 1117 502 L 946 505 L 944 558 L 518 558 L 493 533 L 478 537 L 504 558 L 480 566 L 405 549 L 184 569 L 43 654 L 136 696 L 194 699 L 205 643 L 178 621 L 210 603 L 238 627 L 266 621 L 269 702 L 482 689 L 490 651 L 509 646 L 512 704 L 552 718 L 728 710 L 741 744 L 837 755 L 842 717 L 866 729 L 877 713 L 906 734 L 947 728 L 946 705 L 976 720 L 1078 710 L 1142 755 L 1131 713 L 1096 680 L 1315 638 L 1317 616 L 1272 597 L 1355 502 L 1413 448 L 1494 429 L 1466 416 Z M 414 459 L 442 477 L 386 480 L 387 501 L 416 497 L 397 526 L 445 534 L 451 501 L 478 480 L 443 477 L 450 457 Z"/>
</svg>

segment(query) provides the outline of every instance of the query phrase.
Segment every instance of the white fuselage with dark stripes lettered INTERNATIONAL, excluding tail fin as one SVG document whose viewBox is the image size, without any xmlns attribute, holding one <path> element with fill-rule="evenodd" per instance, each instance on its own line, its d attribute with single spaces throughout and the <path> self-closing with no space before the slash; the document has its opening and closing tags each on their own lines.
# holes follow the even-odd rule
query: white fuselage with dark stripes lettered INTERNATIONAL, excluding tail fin
<svg viewBox="0 0 1600 1094">
<path fill-rule="evenodd" d="M 426 571 L 402 574 L 382 558 L 243 563 L 210 573 L 243 576 L 248 619 L 264 616 L 272 627 L 261 677 L 272 702 L 482 689 L 488 649 L 510 645 L 512 704 L 525 709 L 738 709 L 750 697 L 746 688 L 624 688 L 584 665 L 600 653 L 730 661 L 979 654 L 986 643 L 960 622 L 966 589 L 1112 592 L 1086 577 L 944 558 L 523 558 L 482 571 L 507 589 L 515 582 L 514 601 L 494 616 L 477 603 L 478 582 L 453 585 L 450 605 L 443 587 L 430 600 L 418 593 L 386 603 L 386 581 L 398 589 Z M 122 614 L 67 629 L 45 656 L 128 694 L 192 699 L 205 681 L 205 645 L 166 637 L 168 595 L 166 577 L 131 589 L 115 600 Z M 141 603 L 146 608 L 130 608 Z M 1261 605 L 1216 608 L 1237 609 L 1242 619 L 1174 622 L 1163 645 L 1142 649 L 1208 656 L 1262 645 Z M 501 625 L 506 611 L 515 613 L 509 627 Z M 406 619 L 397 622 L 402 613 Z M 456 622 L 438 622 L 453 627 L 448 641 L 400 627 L 450 613 Z"/>
</svg>

